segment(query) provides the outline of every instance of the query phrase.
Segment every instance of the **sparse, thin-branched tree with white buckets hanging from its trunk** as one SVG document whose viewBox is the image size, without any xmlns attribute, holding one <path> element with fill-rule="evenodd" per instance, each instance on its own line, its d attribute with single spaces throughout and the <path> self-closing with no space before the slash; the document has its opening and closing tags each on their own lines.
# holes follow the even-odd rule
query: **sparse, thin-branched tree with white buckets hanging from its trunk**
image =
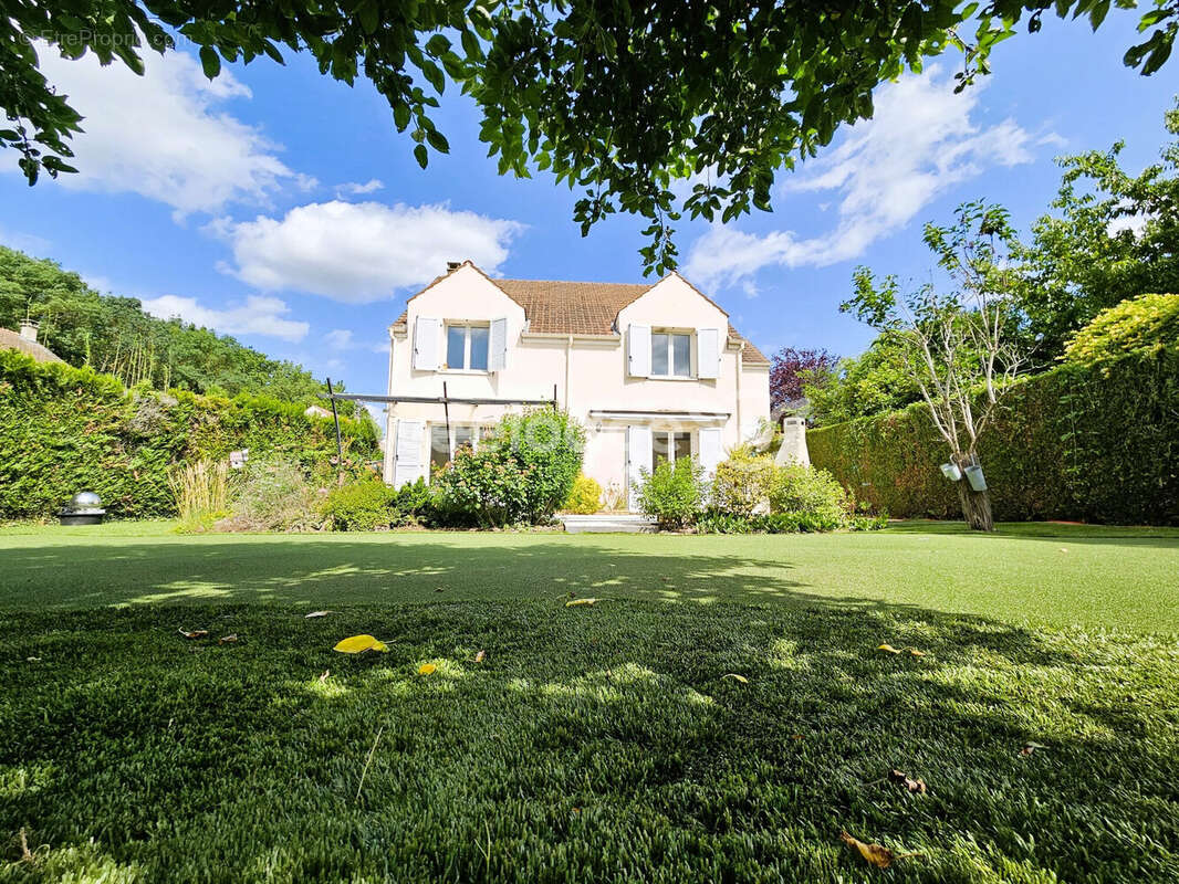
<svg viewBox="0 0 1179 884">
<path fill-rule="evenodd" d="M 954 224 L 927 224 L 926 245 L 949 277 L 948 291 L 926 284 L 901 295 L 895 276 L 876 279 L 867 268 L 854 275 L 855 296 L 841 310 L 902 344 L 905 362 L 929 408 L 934 427 L 957 468 L 962 517 L 975 530 L 994 530 L 990 497 L 967 477 L 982 477 L 979 437 L 1026 361 L 1010 295 L 1017 285 L 1008 255 L 1015 245 L 1007 212 L 966 203 Z M 977 470 L 973 468 L 979 468 Z"/>
</svg>

